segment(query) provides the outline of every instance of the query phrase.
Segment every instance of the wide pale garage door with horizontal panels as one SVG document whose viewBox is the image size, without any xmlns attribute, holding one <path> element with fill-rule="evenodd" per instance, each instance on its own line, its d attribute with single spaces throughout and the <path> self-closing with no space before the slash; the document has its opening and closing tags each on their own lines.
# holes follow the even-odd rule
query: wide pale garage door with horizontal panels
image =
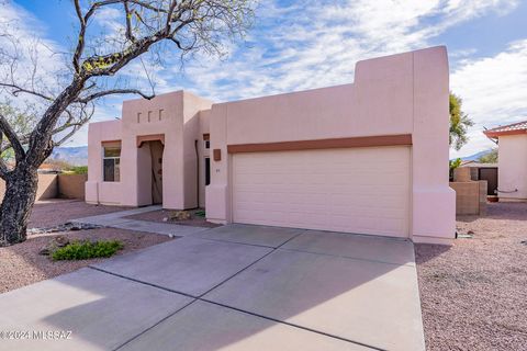
<svg viewBox="0 0 527 351">
<path fill-rule="evenodd" d="M 410 147 L 233 156 L 233 220 L 407 237 Z"/>
</svg>

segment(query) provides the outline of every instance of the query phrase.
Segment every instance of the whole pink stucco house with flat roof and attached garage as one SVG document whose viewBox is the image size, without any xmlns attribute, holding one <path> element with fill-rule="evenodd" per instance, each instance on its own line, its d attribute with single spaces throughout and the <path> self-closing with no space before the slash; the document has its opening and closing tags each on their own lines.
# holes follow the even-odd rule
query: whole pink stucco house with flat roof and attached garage
<svg viewBox="0 0 527 351">
<path fill-rule="evenodd" d="M 359 61 L 355 82 L 214 104 L 184 91 L 89 127 L 90 203 L 449 244 L 445 47 Z"/>
</svg>

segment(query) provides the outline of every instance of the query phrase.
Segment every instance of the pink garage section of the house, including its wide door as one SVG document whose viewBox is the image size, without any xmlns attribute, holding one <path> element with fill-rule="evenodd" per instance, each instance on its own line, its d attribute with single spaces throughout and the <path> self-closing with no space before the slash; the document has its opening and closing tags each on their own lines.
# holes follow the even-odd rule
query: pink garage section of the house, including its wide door
<svg viewBox="0 0 527 351">
<path fill-rule="evenodd" d="M 212 105 L 208 220 L 451 244 L 446 48 L 354 71 L 349 84 Z"/>
</svg>

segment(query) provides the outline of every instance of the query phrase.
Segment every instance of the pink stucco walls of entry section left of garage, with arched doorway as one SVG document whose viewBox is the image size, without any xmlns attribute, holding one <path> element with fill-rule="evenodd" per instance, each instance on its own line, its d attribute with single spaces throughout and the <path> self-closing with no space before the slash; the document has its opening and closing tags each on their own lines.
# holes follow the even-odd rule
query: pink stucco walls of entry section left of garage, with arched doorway
<svg viewBox="0 0 527 351">
<path fill-rule="evenodd" d="M 150 154 L 147 145 L 137 147 L 137 137 L 160 135 L 165 139 L 162 205 L 176 210 L 197 207 L 194 143 L 202 139 L 200 111 L 211 104 L 206 99 L 177 91 L 152 100 L 125 101 L 121 121 L 91 123 L 86 201 L 127 206 L 152 204 Z M 110 140 L 121 141 L 120 182 L 104 182 L 102 177 L 102 143 Z"/>
</svg>

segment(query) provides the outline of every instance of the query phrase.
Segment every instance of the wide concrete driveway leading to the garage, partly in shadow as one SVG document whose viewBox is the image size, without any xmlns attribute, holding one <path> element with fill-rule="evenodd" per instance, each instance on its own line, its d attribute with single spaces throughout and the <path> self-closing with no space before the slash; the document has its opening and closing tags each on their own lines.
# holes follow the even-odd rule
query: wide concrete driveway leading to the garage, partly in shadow
<svg viewBox="0 0 527 351">
<path fill-rule="evenodd" d="M 412 242 L 339 233 L 197 231 L 2 294 L 0 310 L 3 331 L 29 331 L 0 350 L 425 349 Z"/>
</svg>

